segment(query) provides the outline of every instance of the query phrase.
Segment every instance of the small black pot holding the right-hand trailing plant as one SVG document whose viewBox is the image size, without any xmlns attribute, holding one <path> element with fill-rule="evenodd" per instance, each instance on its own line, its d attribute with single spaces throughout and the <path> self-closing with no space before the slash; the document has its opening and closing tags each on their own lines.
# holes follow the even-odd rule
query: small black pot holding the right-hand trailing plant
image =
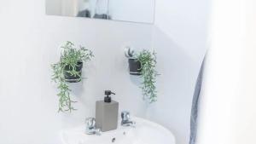
<svg viewBox="0 0 256 144">
<path fill-rule="evenodd" d="M 141 72 L 142 72 L 141 62 L 135 58 L 129 58 L 128 62 L 129 62 L 130 74 L 131 75 L 141 75 Z"/>
</svg>

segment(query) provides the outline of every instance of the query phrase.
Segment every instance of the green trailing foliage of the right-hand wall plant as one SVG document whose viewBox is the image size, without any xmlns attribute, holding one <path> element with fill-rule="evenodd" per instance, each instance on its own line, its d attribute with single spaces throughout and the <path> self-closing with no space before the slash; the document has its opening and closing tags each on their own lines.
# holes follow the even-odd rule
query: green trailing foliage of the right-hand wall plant
<svg viewBox="0 0 256 144">
<path fill-rule="evenodd" d="M 155 70 L 156 66 L 156 53 L 151 53 L 149 50 L 143 49 L 143 51 L 137 54 L 137 60 L 141 63 L 141 78 L 143 78 L 142 90 L 143 97 L 148 98 L 149 102 L 157 101 L 156 90 L 156 77 L 159 75 Z"/>
</svg>

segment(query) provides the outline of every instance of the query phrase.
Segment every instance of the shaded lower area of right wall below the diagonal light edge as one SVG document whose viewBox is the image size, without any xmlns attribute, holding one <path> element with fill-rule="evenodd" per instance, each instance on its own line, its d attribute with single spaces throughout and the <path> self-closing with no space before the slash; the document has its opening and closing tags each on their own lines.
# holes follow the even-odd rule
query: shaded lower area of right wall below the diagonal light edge
<svg viewBox="0 0 256 144">
<path fill-rule="evenodd" d="M 189 140 L 189 120 L 195 80 L 201 60 L 193 60 L 159 28 L 154 28 L 157 52 L 158 101 L 148 107 L 149 119 L 170 129 L 177 144 Z M 184 140 L 188 139 L 188 140 Z"/>
</svg>

